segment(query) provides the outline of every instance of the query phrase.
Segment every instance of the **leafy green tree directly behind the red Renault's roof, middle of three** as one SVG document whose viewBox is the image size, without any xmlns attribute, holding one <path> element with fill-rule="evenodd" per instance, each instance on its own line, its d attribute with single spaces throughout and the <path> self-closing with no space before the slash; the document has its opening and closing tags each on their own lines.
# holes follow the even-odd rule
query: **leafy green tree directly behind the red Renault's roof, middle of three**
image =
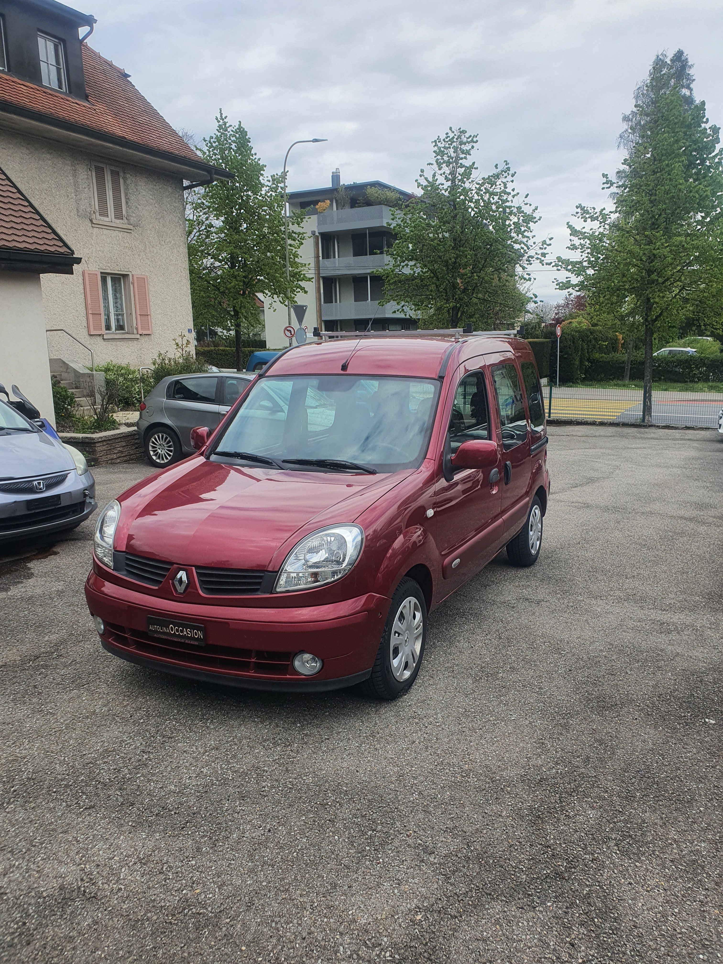
<svg viewBox="0 0 723 964">
<path fill-rule="evenodd" d="M 396 240 L 384 281 L 384 301 L 415 313 L 422 327 L 479 330 L 522 314 L 520 290 L 533 260 L 533 226 L 540 220 L 526 196 L 518 203 L 505 161 L 485 176 L 470 160 L 476 134 L 450 129 L 433 142 L 434 161 L 420 171 L 413 198 L 392 214 Z M 541 256 L 548 242 L 539 246 Z"/>
</svg>

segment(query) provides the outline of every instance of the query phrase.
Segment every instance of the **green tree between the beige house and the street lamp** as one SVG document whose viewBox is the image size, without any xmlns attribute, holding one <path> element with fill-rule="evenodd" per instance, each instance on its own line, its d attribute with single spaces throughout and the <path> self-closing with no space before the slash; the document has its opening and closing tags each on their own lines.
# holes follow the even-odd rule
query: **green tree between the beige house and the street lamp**
<svg viewBox="0 0 723 964">
<path fill-rule="evenodd" d="M 256 294 L 286 300 L 281 174 L 265 174 L 248 133 L 228 123 L 222 111 L 216 131 L 203 140 L 201 156 L 234 174 L 197 189 L 188 202 L 188 259 L 194 324 L 232 330 L 236 367 L 241 369 L 241 341 L 258 330 Z M 291 215 L 292 226 L 303 214 Z M 289 231 L 290 295 L 304 290 L 306 267 L 299 258 L 304 240 Z"/>
</svg>

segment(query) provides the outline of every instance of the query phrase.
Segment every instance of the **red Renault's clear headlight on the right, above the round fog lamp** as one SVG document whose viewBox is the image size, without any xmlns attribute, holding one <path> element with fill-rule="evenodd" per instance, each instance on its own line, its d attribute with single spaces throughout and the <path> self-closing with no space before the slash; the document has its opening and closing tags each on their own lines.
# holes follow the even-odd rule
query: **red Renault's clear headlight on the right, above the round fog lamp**
<svg viewBox="0 0 723 964">
<path fill-rule="evenodd" d="M 332 525 L 312 532 L 286 556 L 274 592 L 315 589 L 346 576 L 359 559 L 363 541 L 359 525 Z"/>
</svg>

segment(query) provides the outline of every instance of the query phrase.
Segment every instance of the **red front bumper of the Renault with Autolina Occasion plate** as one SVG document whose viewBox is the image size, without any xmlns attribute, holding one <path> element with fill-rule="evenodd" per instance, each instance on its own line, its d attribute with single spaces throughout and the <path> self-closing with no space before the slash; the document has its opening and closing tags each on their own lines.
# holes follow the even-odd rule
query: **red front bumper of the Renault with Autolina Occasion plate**
<svg viewBox="0 0 723 964">
<path fill-rule="evenodd" d="M 368 593 L 305 607 L 219 606 L 150 597 L 91 573 L 86 600 L 105 623 L 101 644 L 114 656 L 177 676 L 254 689 L 318 692 L 360 683 L 371 673 L 389 601 Z M 147 634 L 147 617 L 202 623 L 206 644 Z M 313 677 L 292 666 L 297 653 L 319 656 Z"/>
</svg>

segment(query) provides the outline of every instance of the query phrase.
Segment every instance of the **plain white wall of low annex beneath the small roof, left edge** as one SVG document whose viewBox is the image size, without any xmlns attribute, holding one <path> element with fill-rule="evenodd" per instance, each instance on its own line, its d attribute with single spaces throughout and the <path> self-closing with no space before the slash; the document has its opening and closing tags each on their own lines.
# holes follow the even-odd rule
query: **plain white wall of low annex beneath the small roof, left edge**
<svg viewBox="0 0 723 964">
<path fill-rule="evenodd" d="M 55 425 L 39 275 L 0 271 L 0 382 Z"/>
</svg>

